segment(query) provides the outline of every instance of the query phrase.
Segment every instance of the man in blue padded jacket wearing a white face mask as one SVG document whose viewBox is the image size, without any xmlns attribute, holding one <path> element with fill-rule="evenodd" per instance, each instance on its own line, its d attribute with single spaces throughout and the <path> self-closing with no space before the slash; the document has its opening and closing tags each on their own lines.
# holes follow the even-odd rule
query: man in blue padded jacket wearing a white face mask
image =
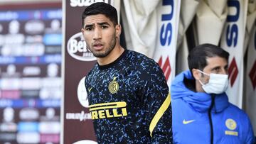
<svg viewBox="0 0 256 144">
<path fill-rule="evenodd" d="M 225 94 L 228 57 L 211 44 L 189 53 L 189 70 L 171 84 L 174 143 L 255 143 L 249 117 Z"/>
</svg>

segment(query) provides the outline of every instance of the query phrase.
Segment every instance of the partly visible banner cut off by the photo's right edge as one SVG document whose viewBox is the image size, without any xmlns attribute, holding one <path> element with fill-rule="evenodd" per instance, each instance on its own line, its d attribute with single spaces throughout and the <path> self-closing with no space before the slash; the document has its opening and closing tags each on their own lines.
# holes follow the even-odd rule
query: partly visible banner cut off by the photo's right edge
<svg viewBox="0 0 256 144">
<path fill-rule="evenodd" d="M 247 51 L 246 70 L 246 112 L 250 116 L 250 121 L 256 135 L 256 24 L 250 36 Z"/>
</svg>

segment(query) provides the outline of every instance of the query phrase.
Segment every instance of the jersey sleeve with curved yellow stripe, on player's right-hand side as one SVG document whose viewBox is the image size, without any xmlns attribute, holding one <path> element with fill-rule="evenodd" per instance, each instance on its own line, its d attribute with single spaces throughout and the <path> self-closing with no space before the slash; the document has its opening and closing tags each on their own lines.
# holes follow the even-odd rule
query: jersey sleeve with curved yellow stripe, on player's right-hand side
<svg viewBox="0 0 256 144">
<path fill-rule="evenodd" d="M 146 75 L 143 105 L 151 143 L 172 143 L 171 96 L 164 73 L 156 64 Z"/>
</svg>

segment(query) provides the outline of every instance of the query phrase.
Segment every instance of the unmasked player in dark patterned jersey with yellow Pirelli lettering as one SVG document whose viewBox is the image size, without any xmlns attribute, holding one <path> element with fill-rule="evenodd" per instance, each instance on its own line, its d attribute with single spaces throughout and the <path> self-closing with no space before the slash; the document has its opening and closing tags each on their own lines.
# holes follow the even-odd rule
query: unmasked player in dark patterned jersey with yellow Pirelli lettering
<svg viewBox="0 0 256 144">
<path fill-rule="evenodd" d="M 119 44 L 110 4 L 82 13 L 82 34 L 97 64 L 85 79 L 98 143 L 171 143 L 171 97 L 154 60 Z"/>
</svg>

